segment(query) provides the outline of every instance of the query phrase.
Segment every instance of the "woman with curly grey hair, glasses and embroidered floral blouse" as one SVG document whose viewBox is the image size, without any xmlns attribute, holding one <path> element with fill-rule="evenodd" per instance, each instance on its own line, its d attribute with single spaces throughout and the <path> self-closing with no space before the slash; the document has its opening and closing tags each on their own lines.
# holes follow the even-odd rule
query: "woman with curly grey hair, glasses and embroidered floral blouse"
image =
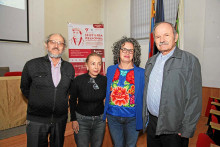
<svg viewBox="0 0 220 147">
<path fill-rule="evenodd" d="M 103 120 L 108 120 L 116 147 L 135 147 L 142 129 L 144 69 L 141 48 L 134 38 L 122 37 L 113 44 L 114 64 L 107 69 L 107 91 Z"/>
</svg>

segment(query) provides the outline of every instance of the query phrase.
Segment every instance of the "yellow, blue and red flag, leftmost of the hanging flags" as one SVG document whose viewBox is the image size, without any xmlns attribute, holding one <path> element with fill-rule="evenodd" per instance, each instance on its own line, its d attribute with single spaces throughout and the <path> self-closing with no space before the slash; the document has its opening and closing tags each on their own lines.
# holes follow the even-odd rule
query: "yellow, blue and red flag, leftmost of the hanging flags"
<svg viewBox="0 0 220 147">
<path fill-rule="evenodd" d="M 153 29 L 155 24 L 155 7 L 154 7 L 155 1 L 152 0 L 151 3 L 151 20 L 150 20 L 150 40 L 149 40 L 149 58 L 153 56 L 154 51 L 154 37 L 153 37 Z"/>
</svg>

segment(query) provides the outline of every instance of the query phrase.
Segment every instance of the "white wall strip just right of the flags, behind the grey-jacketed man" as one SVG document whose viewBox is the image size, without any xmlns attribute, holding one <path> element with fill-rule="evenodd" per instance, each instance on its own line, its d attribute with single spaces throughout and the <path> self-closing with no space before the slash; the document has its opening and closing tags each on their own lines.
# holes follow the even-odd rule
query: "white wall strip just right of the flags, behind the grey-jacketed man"
<svg viewBox="0 0 220 147">
<path fill-rule="evenodd" d="M 204 22 L 206 0 L 185 0 L 184 50 L 203 63 Z M 199 6 L 198 6 L 199 4 Z M 200 8 L 199 10 L 197 8 Z"/>
</svg>

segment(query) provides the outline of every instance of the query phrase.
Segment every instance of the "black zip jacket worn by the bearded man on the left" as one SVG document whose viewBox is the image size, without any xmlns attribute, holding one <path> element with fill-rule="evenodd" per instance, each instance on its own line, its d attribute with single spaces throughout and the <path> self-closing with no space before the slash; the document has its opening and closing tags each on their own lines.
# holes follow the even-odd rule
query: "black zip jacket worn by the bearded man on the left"
<svg viewBox="0 0 220 147">
<path fill-rule="evenodd" d="M 50 123 L 67 117 L 70 82 L 75 76 L 73 66 L 61 62 L 61 79 L 53 84 L 48 55 L 28 61 L 21 77 L 21 91 L 28 99 L 27 120 Z"/>
</svg>

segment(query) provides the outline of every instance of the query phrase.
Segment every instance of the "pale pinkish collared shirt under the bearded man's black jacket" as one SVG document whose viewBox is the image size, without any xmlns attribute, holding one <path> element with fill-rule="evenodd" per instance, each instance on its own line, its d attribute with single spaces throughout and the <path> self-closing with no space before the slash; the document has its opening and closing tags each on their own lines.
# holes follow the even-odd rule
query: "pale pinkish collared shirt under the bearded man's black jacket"
<svg viewBox="0 0 220 147">
<path fill-rule="evenodd" d="M 53 83 L 54 83 L 54 86 L 57 87 L 57 85 L 59 84 L 60 79 L 61 79 L 61 73 L 60 73 L 61 59 L 57 63 L 56 66 L 53 65 L 53 61 L 52 61 L 51 57 L 49 57 L 49 59 L 50 59 L 50 63 L 51 63 L 51 73 L 52 73 Z"/>
</svg>

